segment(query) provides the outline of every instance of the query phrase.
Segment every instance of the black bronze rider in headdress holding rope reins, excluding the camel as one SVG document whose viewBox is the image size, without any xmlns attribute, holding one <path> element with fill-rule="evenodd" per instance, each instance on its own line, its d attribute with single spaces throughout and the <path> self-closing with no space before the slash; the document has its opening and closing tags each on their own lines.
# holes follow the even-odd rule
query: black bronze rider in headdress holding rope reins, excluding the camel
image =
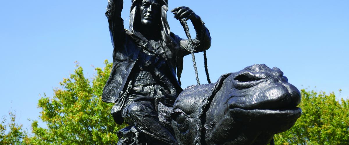
<svg viewBox="0 0 349 145">
<path fill-rule="evenodd" d="M 158 119 L 158 102 L 173 105 L 180 87 L 183 57 L 191 53 L 188 39 L 170 32 L 167 0 L 132 0 L 129 30 L 124 29 L 123 0 L 109 0 L 106 16 L 113 43 L 113 67 L 103 90 L 103 101 L 115 103 L 116 123 L 126 121 L 158 144 L 176 144 L 171 129 Z M 172 10 L 177 19 L 191 20 L 195 53 L 210 47 L 210 33 L 188 7 Z"/>
</svg>

